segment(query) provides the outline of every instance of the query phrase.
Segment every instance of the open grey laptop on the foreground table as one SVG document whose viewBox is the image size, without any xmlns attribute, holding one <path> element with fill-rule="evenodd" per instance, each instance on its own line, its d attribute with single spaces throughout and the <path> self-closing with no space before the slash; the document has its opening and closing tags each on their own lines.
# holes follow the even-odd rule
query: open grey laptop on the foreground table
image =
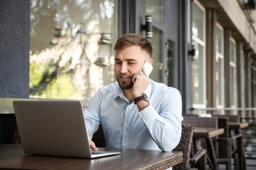
<svg viewBox="0 0 256 170">
<path fill-rule="evenodd" d="M 81 101 L 13 101 L 26 154 L 97 158 L 120 152 L 91 151 Z"/>
</svg>

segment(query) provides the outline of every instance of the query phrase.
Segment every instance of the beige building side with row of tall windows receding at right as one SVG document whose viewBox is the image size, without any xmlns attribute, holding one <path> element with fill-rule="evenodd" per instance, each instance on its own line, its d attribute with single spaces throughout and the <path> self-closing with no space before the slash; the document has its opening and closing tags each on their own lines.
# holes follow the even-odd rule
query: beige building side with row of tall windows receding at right
<svg viewBox="0 0 256 170">
<path fill-rule="evenodd" d="M 201 48 L 199 58 L 204 58 L 198 65 L 192 63 L 194 111 L 254 118 L 255 2 L 193 1 L 192 10 L 192 40 Z M 194 23 L 201 25 L 201 37 L 195 37 Z M 205 80 L 196 83 L 194 69 L 200 67 Z"/>
</svg>

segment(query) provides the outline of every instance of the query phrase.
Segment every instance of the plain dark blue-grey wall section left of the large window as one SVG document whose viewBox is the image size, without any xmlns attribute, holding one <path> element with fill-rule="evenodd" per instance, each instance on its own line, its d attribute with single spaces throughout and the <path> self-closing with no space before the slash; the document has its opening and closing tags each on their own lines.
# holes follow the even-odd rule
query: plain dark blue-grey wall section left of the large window
<svg viewBox="0 0 256 170">
<path fill-rule="evenodd" d="M 30 1 L 0 0 L 0 97 L 28 98 Z"/>
</svg>

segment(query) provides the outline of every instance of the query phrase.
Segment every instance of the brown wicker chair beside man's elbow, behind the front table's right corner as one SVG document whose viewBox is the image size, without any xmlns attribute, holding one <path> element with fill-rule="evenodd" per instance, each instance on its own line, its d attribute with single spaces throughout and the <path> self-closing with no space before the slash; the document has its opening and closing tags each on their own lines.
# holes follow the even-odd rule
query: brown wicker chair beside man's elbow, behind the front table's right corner
<svg viewBox="0 0 256 170">
<path fill-rule="evenodd" d="M 182 163 L 175 165 L 173 169 L 190 169 L 189 160 L 190 160 L 190 150 L 192 145 L 193 133 L 194 133 L 194 127 L 188 124 L 182 124 L 181 141 L 176 146 L 174 151 L 182 151 L 183 161 Z"/>
</svg>

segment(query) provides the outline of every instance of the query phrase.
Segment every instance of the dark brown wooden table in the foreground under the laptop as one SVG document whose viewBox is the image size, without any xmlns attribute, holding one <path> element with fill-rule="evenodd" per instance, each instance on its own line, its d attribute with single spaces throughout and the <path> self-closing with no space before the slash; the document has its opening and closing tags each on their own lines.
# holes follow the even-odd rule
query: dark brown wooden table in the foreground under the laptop
<svg viewBox="0 0 256 170">
<path fill-rule="evenodd" d="M 167 169 L 182 162 L 182 152 L 110 149 L 121 154 L 83 159 L 24 154 L 20 144 L 0 144 L 0 169 Z"/>
</svg>

